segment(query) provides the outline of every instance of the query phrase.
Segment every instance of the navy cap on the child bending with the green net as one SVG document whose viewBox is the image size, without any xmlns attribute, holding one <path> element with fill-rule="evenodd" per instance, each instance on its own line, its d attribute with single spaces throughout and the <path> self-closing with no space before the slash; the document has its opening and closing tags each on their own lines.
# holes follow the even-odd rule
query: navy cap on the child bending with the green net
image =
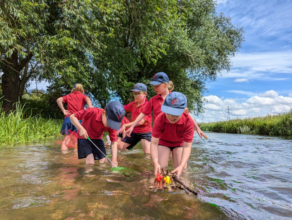
<svg viewBox="0 0 292 220">
<path fill-rule="evenodd" d="M 105 106 L 107 112 L 107 124 L 111 129 L 119 130 L 121 127 L 121 122 L 125 116 L 124 105 L 118 101 L 110 101 Z"/>
</svg>

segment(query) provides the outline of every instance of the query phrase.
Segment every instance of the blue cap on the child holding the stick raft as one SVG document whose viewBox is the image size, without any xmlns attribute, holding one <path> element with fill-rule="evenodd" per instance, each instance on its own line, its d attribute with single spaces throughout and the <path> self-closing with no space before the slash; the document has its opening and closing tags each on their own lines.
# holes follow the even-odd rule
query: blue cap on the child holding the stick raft
<svg viewBox="0 0 292 220">
<path fill-rule="evenodd" d="M 164 100 L 161 111 L 170 115 L 181 115 L 187 107 L 187 98 L 183 93 L 171 92 Z"/>
</svg>

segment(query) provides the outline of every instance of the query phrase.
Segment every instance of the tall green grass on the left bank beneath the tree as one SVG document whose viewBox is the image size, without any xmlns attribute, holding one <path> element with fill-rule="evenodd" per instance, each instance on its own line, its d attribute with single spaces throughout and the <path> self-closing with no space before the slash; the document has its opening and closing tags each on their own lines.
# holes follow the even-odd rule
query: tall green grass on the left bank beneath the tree
<svg viewBox="0 0 292 220">
<path fill-rule="evenodd" d="M 0 109 L 1 105 L 0 102 Z M 16 110 L 0 112 L 0 148 L 40 141 L 60 134 L 62 120 L 44 119 L 40 115 L 32 117 L 25 105 L 15 103 L 15 107 Z"/>
</svg>

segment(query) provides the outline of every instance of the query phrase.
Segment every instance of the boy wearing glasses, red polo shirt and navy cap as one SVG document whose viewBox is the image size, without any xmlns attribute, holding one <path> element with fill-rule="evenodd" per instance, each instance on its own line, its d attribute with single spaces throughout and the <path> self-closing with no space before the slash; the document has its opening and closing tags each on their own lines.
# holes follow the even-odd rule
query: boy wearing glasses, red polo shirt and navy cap
<svg viewBox="0 0 292 220">
<path fill-rule="evenodd" d="M 128 124 L 123 124 L 118 130 L 118 133 L 124 131 L 124 129 L 131 127 L 136 118 L 140 115 L 143 108 L 147 104 L 147 86 L 143 83 L 137 83 L 132 90 L 135 101 L 124 105 L 126 112 L 132 113 L 131 122 Z M 144 153 L 150 153 L 150 143 L 151 143 L 151 132 L 152 132 L 152 116 L 145 116 L 136 127 L 134 127 L 131 137 L 126 136 L 122 139 L 124 145 L 121 144 L 119 150 L 128 149 L 131 150 L 139 141 L 141 141 Z"/>
</svg>

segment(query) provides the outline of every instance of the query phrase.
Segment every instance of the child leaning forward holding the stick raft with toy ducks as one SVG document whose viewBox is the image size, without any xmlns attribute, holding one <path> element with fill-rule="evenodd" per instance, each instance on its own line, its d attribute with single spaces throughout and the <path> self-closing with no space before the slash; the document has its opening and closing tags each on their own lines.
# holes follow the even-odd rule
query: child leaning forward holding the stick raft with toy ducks
<svg viewBox="0 0 292 220">
<path fill-rule="evenodd" d="M 185 95 L 171 92 L 161 106 L 162 113 L 154 120 L 150 151 L 155 175 L 168 164 L 171 153 L 175 166 L 171 173 L 180 176 L 187 164 L 191 154 L 194 122 L 184 112 L 186 107 Z"/>
</svg>

